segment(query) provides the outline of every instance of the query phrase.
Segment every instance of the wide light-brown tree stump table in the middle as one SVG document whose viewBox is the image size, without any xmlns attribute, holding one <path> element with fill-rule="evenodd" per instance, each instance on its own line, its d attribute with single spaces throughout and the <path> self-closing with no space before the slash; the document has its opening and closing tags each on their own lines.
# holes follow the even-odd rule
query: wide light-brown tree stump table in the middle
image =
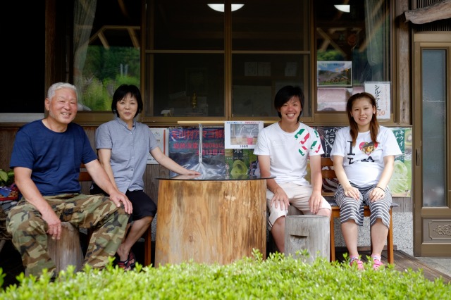
<svg viewBox="0 0 451 300">
<path fill-rule="evenodd" d="M 155 266 L 266 258 L 266 178 L 159 178 Z"/>
</svg>

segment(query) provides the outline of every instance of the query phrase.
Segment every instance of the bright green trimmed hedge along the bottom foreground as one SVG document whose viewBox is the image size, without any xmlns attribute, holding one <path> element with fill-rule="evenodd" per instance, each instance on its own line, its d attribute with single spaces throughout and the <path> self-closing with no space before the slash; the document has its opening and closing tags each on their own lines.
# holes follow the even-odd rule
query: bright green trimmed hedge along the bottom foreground
<svg viewBox="0 0 451 300">
<path fill-rule="evenodd" d="M 20 285 L 4 288 L 0 299 L 450 299 L 451 285 L 441 277 L 432 282 L 421 271 L 365 267 L 359 271 L 324 258 L 309 264 L 283 254 L 264 260 L 258 251 L 230 265 L 138 264 L 124 272 L 110 263 L 105 270 L 86 266 L 75 274 L 70 267 L 54 282 L 47 274 L 39 280 L 22 274 Z M 0 269 L 0 285 L 3 277 Z"/>
</svg>

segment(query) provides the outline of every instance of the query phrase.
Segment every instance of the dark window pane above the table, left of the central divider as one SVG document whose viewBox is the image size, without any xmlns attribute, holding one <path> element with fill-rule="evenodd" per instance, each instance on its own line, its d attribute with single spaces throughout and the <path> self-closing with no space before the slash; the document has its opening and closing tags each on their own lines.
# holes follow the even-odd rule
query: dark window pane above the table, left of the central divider
<svg viewBox="0 0 451 300">
<path fill-rule="evenodd" d="M 226 115 L 225 18 L 209 3 L 147 1 L 144 120 Z"/>
</svg>

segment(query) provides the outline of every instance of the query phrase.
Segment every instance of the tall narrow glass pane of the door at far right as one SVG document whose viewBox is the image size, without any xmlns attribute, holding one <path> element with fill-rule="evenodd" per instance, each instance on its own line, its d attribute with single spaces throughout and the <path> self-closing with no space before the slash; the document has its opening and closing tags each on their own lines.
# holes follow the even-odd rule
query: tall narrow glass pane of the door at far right
<svg viewBox="0 0 451 300">
<path fill-rule="evenodd" d="M 421 53 L 423 206 L 446 206 L 446 52 Z"/>
</svg>

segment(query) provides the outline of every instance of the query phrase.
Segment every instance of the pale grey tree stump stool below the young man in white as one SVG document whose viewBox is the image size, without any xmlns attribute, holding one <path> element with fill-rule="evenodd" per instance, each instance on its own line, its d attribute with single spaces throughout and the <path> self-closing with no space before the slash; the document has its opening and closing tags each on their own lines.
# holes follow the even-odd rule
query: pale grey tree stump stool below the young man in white
<svg viewBox="0 0 451 300">
<path fill-rule="evenodd" d="M 317 257 L 329 259 L 330 227 L 329 218 L 323 215 L 287 215 L 285 218 L 285 256 L 296 255 L 296 251 L 307 249 L 308 263 Z M 304 256 L 302 256 L 304 257 Z"/>
</svg>

